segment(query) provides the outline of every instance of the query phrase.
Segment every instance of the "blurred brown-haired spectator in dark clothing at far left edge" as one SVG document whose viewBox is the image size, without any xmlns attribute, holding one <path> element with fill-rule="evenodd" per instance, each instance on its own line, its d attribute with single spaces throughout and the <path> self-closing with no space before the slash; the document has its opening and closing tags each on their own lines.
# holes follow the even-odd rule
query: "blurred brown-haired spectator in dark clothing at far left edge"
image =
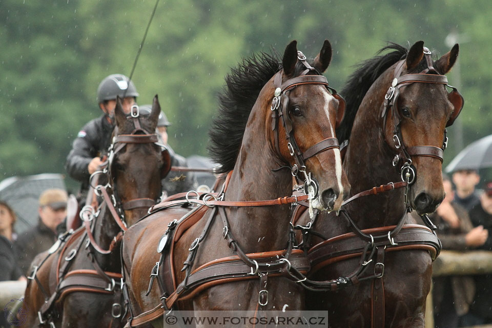
<svg viewBox="0 0 492 328">
<path fill-rule="evenodd" d="M 6 202 L 0 201 L 0 281 L 26 279 L 17 263 L 18 253 L 12 244 L 16 216 Z"/>
</svg>

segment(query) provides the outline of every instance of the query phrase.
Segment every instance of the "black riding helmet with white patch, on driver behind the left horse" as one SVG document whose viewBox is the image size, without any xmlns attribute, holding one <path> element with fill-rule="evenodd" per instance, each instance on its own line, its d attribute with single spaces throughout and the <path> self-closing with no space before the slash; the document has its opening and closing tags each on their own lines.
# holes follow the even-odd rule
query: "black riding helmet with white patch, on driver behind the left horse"
<svg viewBox="0 0 492 328">
<path fill-rule="evenodd" d="M 111 74 L 106 76 L 99 87 L 97 87 L 97 103 L 103 103 L 106 100 L 116 99 L 116 96 L 138 97 L 137 88 L 132 81 L 123 74 Z"/>
</svg>

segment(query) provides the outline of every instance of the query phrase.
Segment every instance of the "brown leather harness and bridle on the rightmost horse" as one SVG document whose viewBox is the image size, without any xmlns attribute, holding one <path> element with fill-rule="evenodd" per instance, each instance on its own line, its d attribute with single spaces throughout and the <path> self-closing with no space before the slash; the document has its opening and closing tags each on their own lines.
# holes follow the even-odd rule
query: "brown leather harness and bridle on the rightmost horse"
<svg viewBox="0 0 492 328">
<path fill-rule="evenodd" d="M 358 284 L 360 281 L 371 279 L 371 327 L 384 327 L 384 285 L 381 279 L 384 275 L 384 254 L 386 252 L 400 251 L 400 250 L 422 250 L 429 252 L 430 257 L 434 260 L 442 249 L 441 241 L 436 235 L 436 226 L 430 221 L 427 215 L 422 215 L 421 218 L 424 221 L 425 226 L 420 224 L 404 224 L 406 215 L 412 211 L 407 199 L 408 189 L 415 181 L 415 168 L 412 166 L 411 156 L 430 156 L 439 159 L 442 162 L 443 150 L 447 146 L 446 131 L 444 131 L 443 148 L 435 146 L 414 146 L 405 147 L 403 138 L 401 135 L 401 116 L 397 106 L 398 95 L 400 89 L 408 86 L 412 83 L 430 83 L 430 84 L 443 84 L 453 89 L 448 94 L 448 99 L 454 106 L 454 111 L 450 116 L 446 127 L 453 124 L 456 117 L 461 112 L 463 107 L 463 97 L 454 87 L 447 84 L 447 78 L 444 75 L 440 75 L 432 66 L 432 59 L 430 58 L 430 51 L 424 47 L 424 56 L 427 63 L 427 69 L 419 74 L 405 74 L 401 75 L 405 60 L 399 61 L 395 69 L 395 78 L 392 86 L 388 89 L 383 111 L 381 113 L 381 128 L 385 131 L 386 119 L 389 109 L 392 110 L 392 120 L 394 127 L 393 141 L 395 142 L 395 148 L 398 154 L 393 159 L 393 166 L 397 167 L 398 163 L 403 160 L 403 165 L 399 168 L 401 174 L 401 182 L 388 183 L 387 185 L 381 185 L 380 187 L 374 187 L 370 190 L 360 192 L 351 198 L 345 200 L 342 204 L 345 205 L 357 198 L 375 195 L 381 192 L 391 191 L 397 188 L 406 187 L 405 191 L 405 204 L 407 210 L 399 220 L 396 226 L 380 227 L 360 230 L 356 223 L 352 220 L 350 215 L 345 211 L 339 211 L 339 214 L 343 215 L 353 230 L 352 233 L 346 233 L 333 238 L 326 238 L 320 233 L 312 230 L 314 226 L 316 215 L 306 226 L 296 226 L 294 229 L 302 231 L 302 245 L 308 257 L 310 259 L 311 271 L 310 274 L 316 271 L 345 259 L 354 257 L 360 257 L 358 267 L 350 274 L 339 277 L 333 280 L 327 281 L 312 281 L 305 279 L 302 284 L 308 290 L 312 291 L 335 291 L 344 286 Z M 383 133 L 384 135 L 384 133 Z M 302 202 L 300 203 L 305 206 Z M 293 222 L 305 211 L 304 209 L 296 209 L 293 216 Z M 324 241 L 310 247 L 310 235 L 314 234 Z M 370 264 L 371 263 L 371 264 Z M 372 267 L 371 271 L 368 268 Z M 370 272 L 369 274 L 366 274 Z M 377 278 L 377 279 L 375 279 Z"/>
</svg>

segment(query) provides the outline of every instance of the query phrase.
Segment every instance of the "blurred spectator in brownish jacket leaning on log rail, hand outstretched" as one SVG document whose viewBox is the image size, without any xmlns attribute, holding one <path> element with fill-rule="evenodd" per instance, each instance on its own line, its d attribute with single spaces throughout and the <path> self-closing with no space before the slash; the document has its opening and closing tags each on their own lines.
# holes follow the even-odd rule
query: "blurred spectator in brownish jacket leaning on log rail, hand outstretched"
<svg viewBox="0 0 492 328">
<path fill-rule="evenodd" d="M 443 176 L 446 197 L 431 219 L 437 226 L 437 235 L 445 250 L 464 251 L 482 245 L 488 232 L 482 226 L 473 228 L 466 210 L 453 201 L 451 181 Z M 434 320 L 436 328 L 458 327 L 460 316 L 469 311 L 475 296 L 475 283 L 468 276 L 436 277 L 433 289 Z"/>
</svg>

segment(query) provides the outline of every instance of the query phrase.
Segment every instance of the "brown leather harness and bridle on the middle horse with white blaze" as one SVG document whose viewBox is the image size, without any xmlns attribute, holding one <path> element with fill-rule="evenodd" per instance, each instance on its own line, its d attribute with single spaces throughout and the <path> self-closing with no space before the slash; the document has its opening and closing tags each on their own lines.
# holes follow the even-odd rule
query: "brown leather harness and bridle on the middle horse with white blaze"
<svg viewBox="0 0 492 328">
<path fill-rule="evenodd" d="M 328 86 L 327 80 L 324 76 L 306 75 L 309 72 L 316 71 L 316 69 L 311 67 L 305 61 L 306 58 L 300 51 L 298 52 L 298 59 L 306 68 L 300 76 L 285 81 L 283 84 L 281 84 L 282 71 L 278 72 L 274 78 L 276 89 L 271 106 L 272 130 L 275 135 L 275 147 L 277 153 L 281 154 L 278 142 L 278 120 L 281 118 L 282 125 L 285 130 L 285 138 L 288 140 L 288 149 L 295 161 L 294 166 L 291 168 L 292 174 L 297 179 L 299 172 L 304 173 L 304 184 L 306 186 L 315 185 L 314 188 L 317 193 L 317 182 L 314 179 L 311 179 L 310 174 L 305 172 L 306 168 L 304 161 L 322 151 L 339 148 L 338 140 L 336 138 L 326 138 L 310 147 L 305 152 L 302 152 L 294 138 L 293 125 L 289 117 L 289 92 L 299 85 L 321 84 L 330 90 L 337 99 L 339 99 L 339 102 L 342 103 L 342 108 L 344 108 L 344 100 L 336 93 L 334 89 Z M 343 115 L 337 115 L 337 117 L 341 120 Z M 284 161 L 288 162 L 286 160 Z M 259 278 L 261 290 L 258 295 L 258 309 L 261 310 L 261 306 L 266 305 L 268 302 L 268 291 L 266 290 L 268 276 L 303 275 L 309 271 L 310 264 L 308 258 L 305 256 L 305 253 L 302 250 L 294 249 L 295 235 L 292 228 L 289 233 L 288 247 L 285 250 L 245 254 L 241 250 L 239 244 L 229 229 L 229 222 L 224 209 L 224 207 L 258 207 L 289 204 L 309 199 L 309 196 L 289 196 L 262 201 L 226 201 L 223 200 L 223 197 L 225 195 L 224 193 L 227 189 L 231 174 L 232 172 L 228 174 L 226 182 L 223 185 L 222 192 L 204 195 L 196 193 L 197 199 L 190 199 L 189 192 L 185 195 L 186 200 L 175 200 L 173 198 L 172 200 L 161 202 L 150 209 L 150 211 L 154 212 L 174 206 L 186 206 L 187 204 L 195 206 L 198 205 L 198 207 L 195 207 L 179 221 L 175 220 L 170 222 L 168 224 L 168 229 L 160 239 L 158 252 L 161 256 L 159 262 L 157 262 L 152 269 L 149 288 L 146 295 L 150 294 L 153 282 L 157 279 L 161 293 L 161 304 L 158 304 L 154 309 L 144 312 L 138 316 L 133 315 L 133 311 L 130 306 L 131 318 L 127 323 L 128 327 L 136 327 L 149 323 L 169 312 L 177 301 L 191 299 L 201 291 L 214 285 L 232 281 Z M 216 216 L 221 218 L 224 227 L 224 239 L 226 239 L 228 247 L 231 248 L 236 255 L 208 262 L 192 271 L 200 242 L 206 238 Z M 186 276 L 182 282 L 177 284 L 175 281 L 172 263 L 174 244 L 181 236 L 182 231 L 185 230 L 183 227 L 191 227 L 198 220 L 206 220 L 206 224 L 201 235 L 190 245 L 189 256 L 183 263 L 183 268 L 181 269 L 181 271 L 186 271 Z M 125 292 L 125 294 L 127 295 L 128 292 Z"/>
</svg>

